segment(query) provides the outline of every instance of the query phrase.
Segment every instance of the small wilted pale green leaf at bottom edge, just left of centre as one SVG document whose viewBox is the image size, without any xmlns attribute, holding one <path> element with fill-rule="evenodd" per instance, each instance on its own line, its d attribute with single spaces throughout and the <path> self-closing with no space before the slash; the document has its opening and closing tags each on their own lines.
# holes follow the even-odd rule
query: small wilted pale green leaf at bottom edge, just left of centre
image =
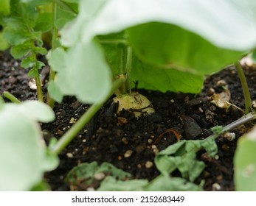
<svg viewBox="0 0 256 206">
<path fill-rule="evenodd" d="M 144 191 L 148 180 L 116 180 L 114 177 L 105 177 L 97 191 Z"/>
</svg>

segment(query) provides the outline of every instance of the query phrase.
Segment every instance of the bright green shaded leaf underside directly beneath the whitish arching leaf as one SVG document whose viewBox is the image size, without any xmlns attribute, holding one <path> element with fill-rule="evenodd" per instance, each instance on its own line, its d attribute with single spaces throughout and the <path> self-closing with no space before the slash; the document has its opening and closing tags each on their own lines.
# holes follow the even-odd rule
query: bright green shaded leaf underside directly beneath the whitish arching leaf
<svg viewBox="0 0 256 206">
<path fill-rule="evenodd" d="M 238 60 L 243 51 L 214 46 L 200 36 L 164 23 L 148 23 L 128 29 L 139 59 L 160 68 L 176 68 L 193 74 L 211 74 Z"/>
</svg>

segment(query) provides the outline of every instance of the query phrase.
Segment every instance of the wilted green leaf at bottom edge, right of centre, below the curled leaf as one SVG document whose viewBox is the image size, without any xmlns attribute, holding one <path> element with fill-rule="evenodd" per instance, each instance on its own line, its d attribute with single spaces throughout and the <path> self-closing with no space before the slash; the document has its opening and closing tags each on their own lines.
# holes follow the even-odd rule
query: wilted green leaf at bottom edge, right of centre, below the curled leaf
<svg viewBox="0 0 256 206">
<path fill-rule="evenodd" d="M 179 177 L 170 177 L 167 175 L 159 175 L 149 182 L 146 191 L 202 191 L 202 189 Z"/>
</svg>

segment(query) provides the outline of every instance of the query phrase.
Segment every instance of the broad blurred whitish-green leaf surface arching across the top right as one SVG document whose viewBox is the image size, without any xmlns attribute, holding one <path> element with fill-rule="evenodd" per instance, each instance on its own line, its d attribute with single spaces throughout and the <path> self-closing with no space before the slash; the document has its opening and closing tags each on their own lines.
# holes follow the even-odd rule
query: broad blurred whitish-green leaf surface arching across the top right
<svg viewBox="0 0 256 206">
<path fill-rule="evenodd" d="M 94 11 L 98 2 L 89 2 L 80 1 L 80 10 L 92 8 Z M 196 33 L 221 48 L 245 51 L 254 48 L 256 44 L 256 18 L 253 15 L 256 2 L 252 0 L 215 0 L 203 3 L 201 0 L 148 0 L 146 9 L 145 1 L 103 2 L 105 4 L 97 7 L 97 13 L 91 18 L 91 24 L 80 28 L 83 40 L 90 40 L 95 35 L 120 32 L 139 24 L 163 22 Z M 86 21 L 88 16 L 83 13 L 78 18 Z"/>
</svg>

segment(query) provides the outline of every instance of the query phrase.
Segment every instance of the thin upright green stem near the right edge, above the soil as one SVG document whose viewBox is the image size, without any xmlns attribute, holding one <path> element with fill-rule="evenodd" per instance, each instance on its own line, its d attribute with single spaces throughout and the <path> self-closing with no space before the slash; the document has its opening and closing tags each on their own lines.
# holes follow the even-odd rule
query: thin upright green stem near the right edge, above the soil
<svg viewBox="0 0 256 206">
<path fill-rule="evenodd" d="M 250 111 L 252 111 L 252 100 L 249 93 L 249 88 L 246 82 L 246 77 L 243 73 L 243 68 L 241 67 L 241 64 L 239 62 L 235 63 L 235 68 L 238 71 L 238 77 L 241 81 L 241 85 L 243 88 L 243 96 L 244 96 L 244 102 L 246 107 L 246 114 L 248 114 Z"/>
</svg>

